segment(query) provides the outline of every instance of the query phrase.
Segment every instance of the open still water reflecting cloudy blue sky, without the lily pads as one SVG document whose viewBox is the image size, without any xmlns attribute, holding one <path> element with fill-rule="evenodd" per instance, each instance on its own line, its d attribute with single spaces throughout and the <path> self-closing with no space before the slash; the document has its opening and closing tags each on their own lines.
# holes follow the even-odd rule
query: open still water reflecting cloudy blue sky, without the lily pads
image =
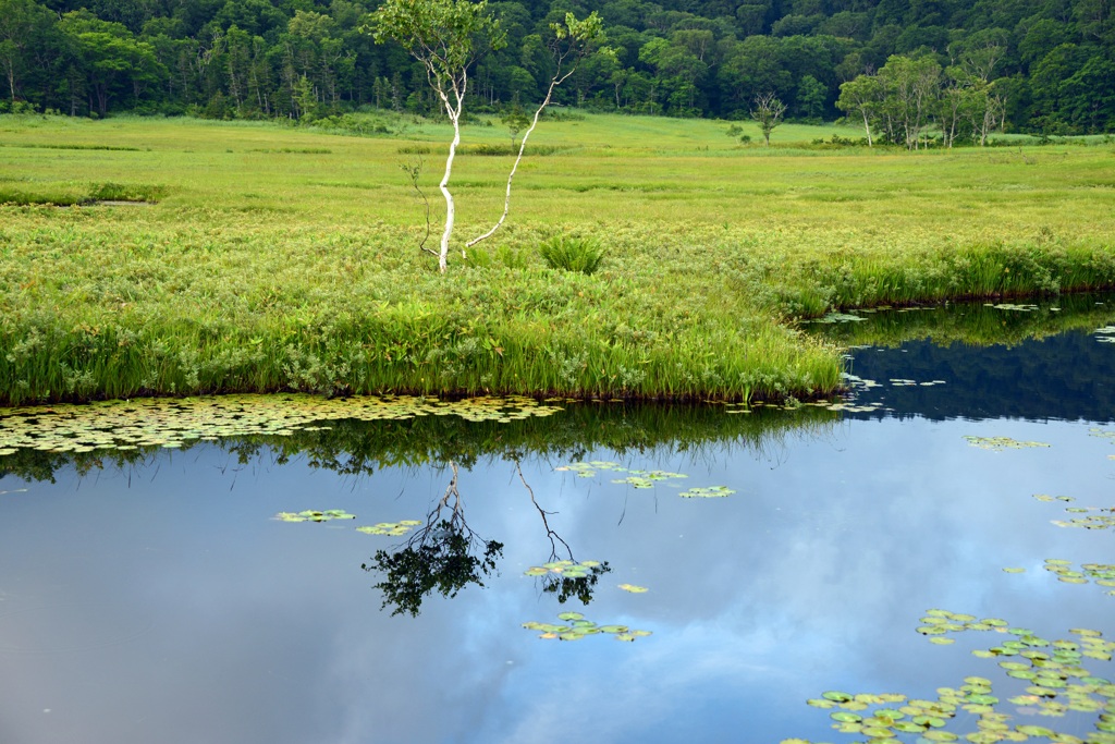
<svg viewBox="0 0 1115 744">
<path fill-rule="evenodd" d="M 856 349 L 852 371 L 878 384 L 856 394 L 878 403 L 871 412 L 667 409 L 649 425 L 638 408 L 570 404 L 545 422 L 564 427 L 562 446 L 464 458 L 458 515 L 481 553 L 502 543 L 496 569 L 478 574 L 484 587 L 423 597 L 414 617 L 382 607 L 374 586 L 385 576 L 362 568 L 406 538 L 355 526 L 425 520 L 449 485 L 447 462 L 372 456 L 339 474 L 313 466 L 320 442 L 290 457 L 265 443 L 241 457 L 225 442 L 122 466 L 55 463 L 54 483 L 8 466 L 0 742 L 842 742 L 864 737 L 833 732 L 806 699 L 933 699 L 970 675 L 1006 699 L 1025 685 L 971 655 L 997 639 L 964 632 L 937 646 L 915 628 L 943 608 L 1048 639 L 1070 628 L 1115 637 L 1111 589 L 1044 570 L 1047 558 L 1115 563 L 1115 530 L 1050 523 L 1079 515 L 1066 506 L 1115 506 L 1115 344 L 1094 332 L 1115 313 L 1095 320 L 1009 348 Z M 943 384 L 920 385 L 933 380 Z M 671 416 L 714 433 L 647 434 Z M 381 424 L 363 426 L 375 438 Z M 966 436 L 1048 446 L 993 451 Z M 590 461 L 688 477 L 636 489 L 613 483 L 626 472 L 558 470 Z M 735 493 L 679 497 L 694 486 Z M 310 509 L 357 520 L 273 519 Z M 588 606 L 524 576 L 570 553 L 607 561 Z M 652 635 L 570 642 L 522 627 L 571 610 Z M 1115 677 L 1111 661 L 1087 666 Z M 1079 737 L 1097 719 L 1000 709 Z M 961 713 L 949 729 L 973 721 Z"/>
</svg>

